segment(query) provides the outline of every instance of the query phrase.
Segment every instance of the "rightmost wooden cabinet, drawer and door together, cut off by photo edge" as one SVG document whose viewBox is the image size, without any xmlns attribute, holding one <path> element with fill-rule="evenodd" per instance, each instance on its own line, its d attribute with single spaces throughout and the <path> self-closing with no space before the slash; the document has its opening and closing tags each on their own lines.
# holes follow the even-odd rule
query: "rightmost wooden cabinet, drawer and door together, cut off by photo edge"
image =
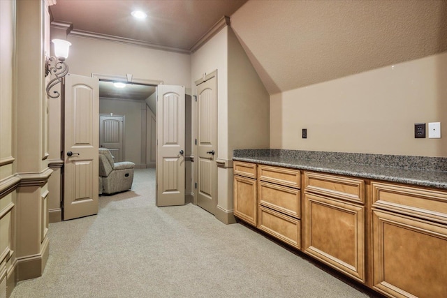
<svg viewBox="0 0 447 298">
<path fill-rule="evenodd" d="M 447 193 L 372 182 L 373 288 L 447 297 Z"/>
</svg>

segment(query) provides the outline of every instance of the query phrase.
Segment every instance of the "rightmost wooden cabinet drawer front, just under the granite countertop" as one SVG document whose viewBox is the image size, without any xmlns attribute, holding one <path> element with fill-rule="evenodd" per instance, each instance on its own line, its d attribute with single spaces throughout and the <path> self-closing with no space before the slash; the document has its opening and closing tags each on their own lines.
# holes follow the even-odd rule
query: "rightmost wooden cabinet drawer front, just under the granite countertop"
<svg viewBox="0 0 447 298">
<path fill-rule="evenodd" d="M 447 192 L 372 182 L 374 207 L 447 223 Z"/>
</svg>

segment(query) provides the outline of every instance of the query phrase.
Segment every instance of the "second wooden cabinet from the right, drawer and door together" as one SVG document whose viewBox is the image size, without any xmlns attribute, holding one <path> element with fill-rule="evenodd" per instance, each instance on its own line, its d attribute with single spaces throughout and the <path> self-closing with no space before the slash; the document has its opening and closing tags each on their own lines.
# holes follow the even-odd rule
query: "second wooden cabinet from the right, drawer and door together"
<svg viewBox="0 0 447 298">
<path fill-rule="evenodd" d="M 364 184 L 305 172 L 304 251 L 365 283 Z"/>
</svg>

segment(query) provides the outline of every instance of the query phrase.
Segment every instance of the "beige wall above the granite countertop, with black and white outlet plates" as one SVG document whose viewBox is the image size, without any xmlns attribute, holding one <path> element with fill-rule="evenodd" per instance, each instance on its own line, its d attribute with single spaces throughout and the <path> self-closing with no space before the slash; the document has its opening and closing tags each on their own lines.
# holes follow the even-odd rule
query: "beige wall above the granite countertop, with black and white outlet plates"
<svg viewBox="0 0 447 298">
<path fill-rule="evenodd" d="M 414 138 L 416 122 L 447 125 L 446 82 L 443 53 L 274 94 L 270 147 L 447 156 L 447 135 Z"/>
</svg>

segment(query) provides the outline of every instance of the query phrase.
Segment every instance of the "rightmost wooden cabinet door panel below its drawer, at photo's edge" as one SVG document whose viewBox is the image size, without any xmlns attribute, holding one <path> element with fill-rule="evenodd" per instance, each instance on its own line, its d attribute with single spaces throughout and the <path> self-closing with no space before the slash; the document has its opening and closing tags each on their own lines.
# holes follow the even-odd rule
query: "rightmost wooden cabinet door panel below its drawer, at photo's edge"
<svg viewBox="0 0 447 298">
<path fill-rule="evenodd" d="M 373 211 L 373 286 L 395 297 L 447 297 L 447 228 Z"/>
</svg>

